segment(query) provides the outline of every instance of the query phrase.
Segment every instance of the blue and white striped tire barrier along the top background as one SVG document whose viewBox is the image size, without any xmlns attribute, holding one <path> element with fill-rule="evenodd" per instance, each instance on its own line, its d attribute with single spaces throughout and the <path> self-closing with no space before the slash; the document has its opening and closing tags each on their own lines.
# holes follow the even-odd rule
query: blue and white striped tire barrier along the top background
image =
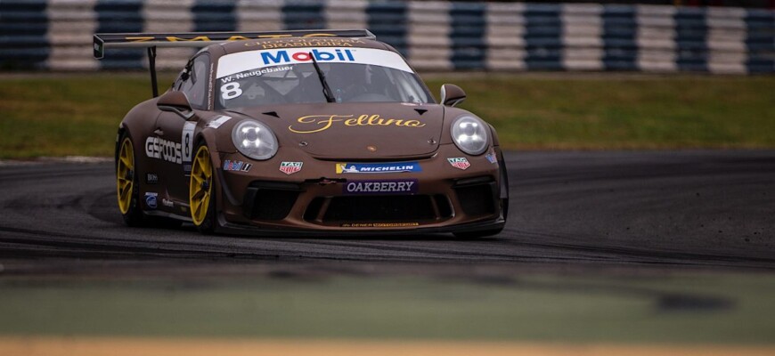
<svg viewBox="0 0 775 356">
<path fill-rule="evenodd" d="M 329 0 L 0 0 L 0 69 L 137 69 L 96 32 L 368 28 L 420 70 L 775 72 L 775 12 L 657 5 Z M 191 49 L 159 50 L 179 69 Z"/>
</svg>

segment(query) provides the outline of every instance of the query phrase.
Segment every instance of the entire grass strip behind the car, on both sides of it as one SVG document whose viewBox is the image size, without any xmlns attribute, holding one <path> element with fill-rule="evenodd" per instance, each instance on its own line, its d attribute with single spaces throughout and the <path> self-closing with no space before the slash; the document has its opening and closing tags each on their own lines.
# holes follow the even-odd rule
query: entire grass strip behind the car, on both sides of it
<svg viewBox="0 0 775 356">
<path fill-rule="evenodd" d="M 162 88 L 171 81 L 163 76 Z M 517 150 L 775 148 L 775 77 L 434 77 Z M 146 74 L 0 77 L 0 158 L 110 156 Z"/>
</svg>

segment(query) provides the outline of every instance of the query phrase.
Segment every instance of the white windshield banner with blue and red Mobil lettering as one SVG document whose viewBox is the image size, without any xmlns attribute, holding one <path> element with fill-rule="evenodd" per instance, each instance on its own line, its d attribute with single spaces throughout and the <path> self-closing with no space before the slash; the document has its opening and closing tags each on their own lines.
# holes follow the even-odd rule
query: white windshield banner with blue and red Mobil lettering
<svg viewBox="0 0 775 356">
<path fill-rule="evenodd" d="M 355 63 L 370 64 L 413 73 L 398 53 L 373 48 L 322 47 L 273 49 L 227 54 L 218 61 L 216 77 L 226 77 L 251 69 L 298 63 Z"/>
</svg>

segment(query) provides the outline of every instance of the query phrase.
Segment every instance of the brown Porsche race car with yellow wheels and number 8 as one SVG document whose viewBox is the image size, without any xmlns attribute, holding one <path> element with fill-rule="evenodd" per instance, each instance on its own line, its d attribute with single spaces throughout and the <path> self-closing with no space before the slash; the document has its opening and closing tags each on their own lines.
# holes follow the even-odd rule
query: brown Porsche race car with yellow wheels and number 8
<svg viewBox="0 0 775 356">
<path fill-rule="evenodd" d="M 157 47 L 203 47 L 157 95 Z M 154 98 L 118 128 L 118 208 L 130 226 L 362 235 L 502 231 L 506 166 L 494 128 L 441 104 L 368 30 L 97 34 L 143 47 Z M 157 97 L 158 96 L 158 97 Z"/>
</svg>

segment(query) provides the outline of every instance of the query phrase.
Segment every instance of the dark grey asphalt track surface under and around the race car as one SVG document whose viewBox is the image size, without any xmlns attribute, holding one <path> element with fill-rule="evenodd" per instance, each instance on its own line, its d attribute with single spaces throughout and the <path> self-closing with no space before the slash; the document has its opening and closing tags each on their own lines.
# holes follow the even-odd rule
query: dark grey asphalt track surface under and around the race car
<svg viewBox="0 0 775 356">
<path fill-rule="evenodd" d="M 506 160 L 507 227 L 473 240 L 133 229 L 118 214 L 111 163 L 4 162 L 0 261 L 20 274 L 88 261 L 110 261 L 101 264 L 110 272 L 122 261 L 235 260 L 775 269 L 775 151 L 509 152 Z"/>
</svg>

